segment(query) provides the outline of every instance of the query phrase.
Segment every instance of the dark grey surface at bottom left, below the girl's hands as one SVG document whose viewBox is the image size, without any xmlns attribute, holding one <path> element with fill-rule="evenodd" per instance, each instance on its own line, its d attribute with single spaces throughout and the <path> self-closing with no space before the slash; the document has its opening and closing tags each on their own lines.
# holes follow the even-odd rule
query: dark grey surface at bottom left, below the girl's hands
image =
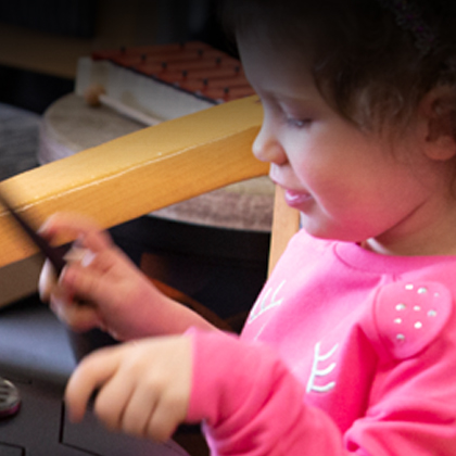
<svg viewBox="0 0 456 456">
<path fill-rule="evenodd" d="M 63 392 L 75 367 L 65 329 L 37 296 L 0 311 L 0 375 L 20 390 L 20 413 L 0 420 L 1 456 L 182 456 L 177 444 L 110 433 L 88 413 L 65 417 Z"/>
</svg>

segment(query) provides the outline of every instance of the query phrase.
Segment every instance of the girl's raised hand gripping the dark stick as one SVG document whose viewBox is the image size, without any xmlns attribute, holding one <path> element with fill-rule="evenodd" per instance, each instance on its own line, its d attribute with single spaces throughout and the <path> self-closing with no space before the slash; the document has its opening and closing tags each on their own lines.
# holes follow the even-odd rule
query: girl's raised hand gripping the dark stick
<svg viewBox="0 0 456 456">
<path fill-rule="evenodd" d="M 69 253 L 59 281 L 49 262 L 39 280 L 41 299 L 50 301 L 60 319 L 75 331 L 99 327 L 121 340 L 148 334 L 151 302 L 160 305 L 165 297 L 106 232 L 87 218 L 56 214 L 41 233 L 50 240 L 62 233 L 77 236 L 73 252 L 79 254 Z"/>
</svg>

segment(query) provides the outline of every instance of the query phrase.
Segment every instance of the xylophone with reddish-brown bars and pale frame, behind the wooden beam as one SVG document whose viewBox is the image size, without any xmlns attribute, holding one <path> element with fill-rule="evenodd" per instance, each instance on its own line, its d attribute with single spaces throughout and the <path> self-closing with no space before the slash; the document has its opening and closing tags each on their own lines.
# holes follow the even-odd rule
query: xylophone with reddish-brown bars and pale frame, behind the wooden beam
<svg viewBox="0 0 456 456">
<path fill-rule="evenodd" d="M 200 41 L 93 52 L 79 61 L 76 93 L 97 104 L 93 87 L 162 121 L 254 93 L 239 60 Z"/>
</svg>

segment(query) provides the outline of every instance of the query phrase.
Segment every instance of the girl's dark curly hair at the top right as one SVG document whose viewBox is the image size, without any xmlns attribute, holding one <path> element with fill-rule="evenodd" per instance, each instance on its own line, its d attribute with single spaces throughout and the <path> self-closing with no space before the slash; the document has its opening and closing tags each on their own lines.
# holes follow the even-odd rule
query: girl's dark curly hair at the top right
<svg viewBox="0 0 456 456">
<path fill-rule="evenodd" d="M 405 126 L 432 88 L 453 88 L 456 137 L 456 1 L 226 0 L 221 17 L 237 37 L 311 51 L 320 92 L 363 128 Z"/>
</svg>

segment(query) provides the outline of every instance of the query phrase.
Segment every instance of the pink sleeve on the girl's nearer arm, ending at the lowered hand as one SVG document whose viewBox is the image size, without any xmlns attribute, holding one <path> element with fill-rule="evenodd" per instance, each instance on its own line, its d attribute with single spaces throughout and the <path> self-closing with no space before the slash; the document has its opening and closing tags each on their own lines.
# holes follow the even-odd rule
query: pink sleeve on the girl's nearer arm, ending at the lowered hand
<svg viewBox="0 0 456 456">
<path fill-rule="evenodd" d="M 303 385 L 269 350 L 220 332 L 191 335 L 194 370 L 187 418 L 204 422 L 212 455 L 346 454 L 334 423 L 304 405 Z"/>
</svg>

